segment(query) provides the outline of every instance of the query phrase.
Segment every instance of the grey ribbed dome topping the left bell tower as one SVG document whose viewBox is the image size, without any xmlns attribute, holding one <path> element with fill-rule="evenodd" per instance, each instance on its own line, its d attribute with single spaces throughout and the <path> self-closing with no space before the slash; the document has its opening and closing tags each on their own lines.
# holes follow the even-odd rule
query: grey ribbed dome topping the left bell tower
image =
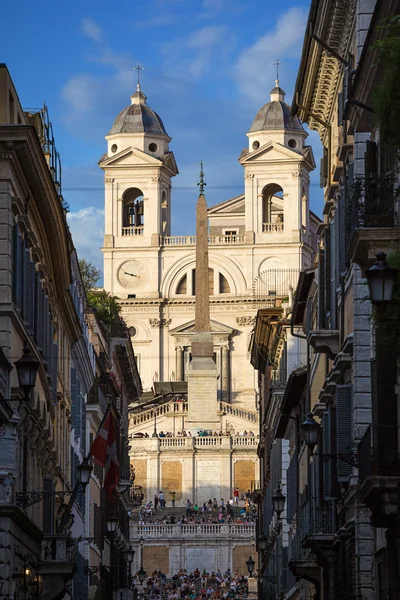
<svg viewBox="0 0 400 600">
<path fill-rule="evenodd" d="M 108 135 L 114 133 L 153 133 L 168 136 L 160 117 L 146 104 L 146 96 L 137 91 L 131 96 L 131 105 L 116 117 Z"/>
</svg>

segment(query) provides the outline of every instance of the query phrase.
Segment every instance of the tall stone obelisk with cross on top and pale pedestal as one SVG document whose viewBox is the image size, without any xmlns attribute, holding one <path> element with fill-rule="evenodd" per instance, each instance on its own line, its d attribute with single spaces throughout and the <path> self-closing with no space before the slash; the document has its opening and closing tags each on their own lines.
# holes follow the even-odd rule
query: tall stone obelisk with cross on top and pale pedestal
<svg viewBox="0 0 400 600">
<path fill-rule="evenodd" d="M 210 327 L 210 293 L 208 281 L 208 219 L 204 196 L 204 173 L 201 162 L 199 198 L 196 206 L 196 278 L 195 332 L 192 338 L 192 361 L 189 365 L 188 418 L 186 427 L 220 429 L 217 402 L 217 367 Z"/>
</svg>

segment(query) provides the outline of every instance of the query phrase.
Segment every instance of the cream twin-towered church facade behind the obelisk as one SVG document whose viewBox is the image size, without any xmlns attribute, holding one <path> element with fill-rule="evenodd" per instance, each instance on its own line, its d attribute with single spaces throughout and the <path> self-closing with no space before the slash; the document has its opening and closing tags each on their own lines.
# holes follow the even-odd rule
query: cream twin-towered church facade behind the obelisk
<svg viewBox="0 0 400 600">
<path fill-rule="evenodd" d="M 307 133 L 278 81 L 239 161 L 244 193 L 208 209 L 209 289 L 218 399 L 255 408 L 248 344 L 258 308 L 288 300 L 316 244 Z M 195 236 L 171 235 L 171 138 L 138 85 L 115 119 L 105 174 L 104 286 L 120 298 L 144 390 L 186 380 L 194 332 Z M 194 203 L 193 203 L 194 210 Z"/>
</svg>

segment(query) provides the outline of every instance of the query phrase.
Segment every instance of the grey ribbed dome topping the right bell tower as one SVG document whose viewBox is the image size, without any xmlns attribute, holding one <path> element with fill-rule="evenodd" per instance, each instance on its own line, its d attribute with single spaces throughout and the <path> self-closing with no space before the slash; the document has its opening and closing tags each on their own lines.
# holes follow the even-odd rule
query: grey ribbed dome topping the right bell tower
<svg viewBox="0 0 400 600">
<path fill-rule="evenodd" d="M 271 100 L 264 104 L 256 114 L 250 132 L 277 130 L 277 129 L 299 129 L 303 126 L 298 117 L 292 115 L 290 106 L 284 102 L 285 92 L 279 87 L 276 80 L 275 87 L 270 92 Z"/>
</svg>

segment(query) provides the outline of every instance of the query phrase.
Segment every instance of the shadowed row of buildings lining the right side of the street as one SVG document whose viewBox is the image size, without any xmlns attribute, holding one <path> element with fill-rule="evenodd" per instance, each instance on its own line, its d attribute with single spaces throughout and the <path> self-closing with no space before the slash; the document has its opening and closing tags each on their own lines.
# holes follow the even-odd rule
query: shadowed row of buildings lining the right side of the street
<svg viewBox="0 0 400 600">
<path fill-rule="evenodd" d="M 271 598 L 278 591 L 324 600 L 399 596 L 398 349 L 391 303 L 387 313 L 374 307 L 366 278 L 379 251 L 389 261 L 398 254 L 398 145 L 383 135 L 374 103 L 390 69 L 380 43 L 388 43 L 399 8 L 390 1 L 311 3 L 292 111 L 324 146 L 324 222 L 289 314 L 307 360 L 288 373 L 259 448 L 269 456 L 260 486 L 265 519 L 280 469 L 274 447 L 288 442 L 287 551 L 271 530 L 261 532 L 260 585 Z M 273 381 L 280 364 L 266 349 L 255 366 Z M 261 392 L 268 413 L 274 386 Z"/>
</svg>

